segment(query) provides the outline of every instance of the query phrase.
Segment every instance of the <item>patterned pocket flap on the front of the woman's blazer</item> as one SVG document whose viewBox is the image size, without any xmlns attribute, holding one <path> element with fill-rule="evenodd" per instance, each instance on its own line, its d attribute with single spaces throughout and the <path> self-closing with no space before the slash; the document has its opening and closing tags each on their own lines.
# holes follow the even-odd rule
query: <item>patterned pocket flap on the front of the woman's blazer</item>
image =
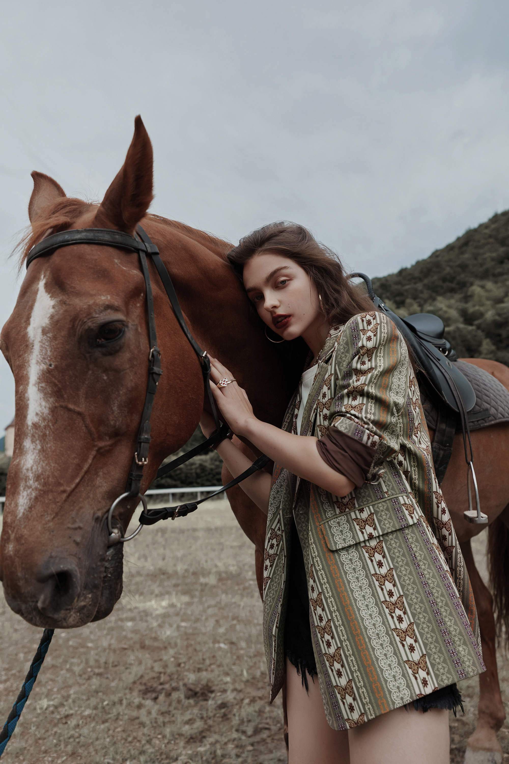
<svg viewBox="0 0 509 764">
<path fill-rule="evenodd" d="M 321 523 L 321 529 L 329 549 L 343 549 L 345 546 L 364 542 L 401 530 L 417 523 L 423 516 L 417 502 L 410 496 L 399 495 L 356 510 L 337 514 Z"/>
</svg>

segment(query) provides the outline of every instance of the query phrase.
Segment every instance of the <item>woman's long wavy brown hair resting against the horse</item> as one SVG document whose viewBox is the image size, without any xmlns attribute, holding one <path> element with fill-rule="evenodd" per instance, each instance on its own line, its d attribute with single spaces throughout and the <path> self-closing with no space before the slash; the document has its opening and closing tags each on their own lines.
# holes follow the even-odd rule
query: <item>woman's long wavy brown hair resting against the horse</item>
<svg viewBox="0 0 509 764">
<path fill-rule="evenodd" d="M 246 262 L 255 254 L 266 251 L 289 257 L 306 271 L 317 287 L 321 306 L 331 326 L 346 323 L 356 313 L 375 310 L 368 294 L 362 287 L 352 283 L 352 277 L 346 273 L 337 254 L 317 241 L 304 225 L 285 221 L 268 223 L 241 238 L 237 247 L 226 256 L 241 283 Z M 250 306 L 256 313 L 256 306 L 251 300 Z M 297 339 L 304 343 L 301 338 Z M 291 358 L 295 357 L 295 351 L 301 357 L 302 348 L 296 340 L 282 343 L 282 348 L 285 345 L 292 346 L 292 349 L 288 348 Z M 409 347 L 408 354 L 414 366 L 413 353 Z"/>
</svg>

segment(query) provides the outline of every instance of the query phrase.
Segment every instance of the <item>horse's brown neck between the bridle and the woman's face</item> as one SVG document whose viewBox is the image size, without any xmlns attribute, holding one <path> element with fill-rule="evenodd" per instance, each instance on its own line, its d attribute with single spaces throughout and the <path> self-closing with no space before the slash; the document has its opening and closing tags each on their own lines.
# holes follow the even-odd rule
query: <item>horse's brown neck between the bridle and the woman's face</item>
<svg viewBox="0 0 509 764">
<path fill-rule="evenodd" d="M 292 384 L 278 345 L 253 321 L 237 277 L 225 262 L 227 244 L 196 231 L 157 225 L 161 257 L 172 277 L 189 330 L 239 380 L 255 416 L 280 426 Z"/>
</svg>

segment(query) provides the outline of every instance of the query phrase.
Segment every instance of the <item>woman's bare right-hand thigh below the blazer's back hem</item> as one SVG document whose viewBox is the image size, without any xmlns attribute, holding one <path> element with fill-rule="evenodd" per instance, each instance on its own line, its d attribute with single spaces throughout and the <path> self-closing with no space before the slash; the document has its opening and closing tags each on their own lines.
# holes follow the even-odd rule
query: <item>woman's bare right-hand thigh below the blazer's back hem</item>
<svg viewBox="0 0 509 764">
<path fill-rule="evenodd" d="M 352 764 L 449 764 L 449 711 L 395 708 L 348 731 Z"/>
</svg>

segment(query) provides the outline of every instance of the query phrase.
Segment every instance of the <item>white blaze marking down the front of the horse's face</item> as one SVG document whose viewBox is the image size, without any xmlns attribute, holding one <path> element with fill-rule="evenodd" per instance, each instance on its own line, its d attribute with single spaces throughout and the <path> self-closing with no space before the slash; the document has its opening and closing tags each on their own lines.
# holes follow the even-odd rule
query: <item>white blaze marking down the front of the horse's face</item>
<svg viewBox="0 0 509 764">
<path fill-rule="evenodd" d="M 30 323 L 27 329 L 31 347 L 28 360 L 27 385 L 27 422 L 24 431 L 24 442 L 21 446 L 23 478 L 18 489 L 18 516 L 30 506 L 34 499 L 45 468 L 43 445 L 40 437 L 47 429 L 49 422 L 45 421 L 50 411 L 50 402 L 45 397 L 40 374 L 50 360 L 50 337 L 44 332 L 50 316 L 55 308 L 55 300 L 44 287 L 45 275 L 40 278 L 37 286 L 37 296 L 32 308 Z M 39 432 L 34 432 L 34 426 L 40 426 Z"/>
</svg>

